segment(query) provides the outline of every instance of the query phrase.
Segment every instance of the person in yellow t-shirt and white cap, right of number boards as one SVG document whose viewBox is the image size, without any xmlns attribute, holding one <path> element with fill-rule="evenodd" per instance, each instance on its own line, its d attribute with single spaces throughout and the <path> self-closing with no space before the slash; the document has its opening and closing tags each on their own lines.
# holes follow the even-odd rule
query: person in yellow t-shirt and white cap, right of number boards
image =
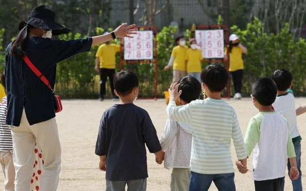
<svg viewBox="0 0 306 191">
<path fill-rule="evenodd" d="M 229 71 L 231 72 L 235 95 L 234 99 L 241 99 L 241 87 L 243 77 L 243 60 L 242 53 L 247 53 L 248 50 L 239 42 L 237 35 L 232 34 L 229 37 L 229 45 L 224 53 L 224 61 L 229 59 Z"/>
</svg>

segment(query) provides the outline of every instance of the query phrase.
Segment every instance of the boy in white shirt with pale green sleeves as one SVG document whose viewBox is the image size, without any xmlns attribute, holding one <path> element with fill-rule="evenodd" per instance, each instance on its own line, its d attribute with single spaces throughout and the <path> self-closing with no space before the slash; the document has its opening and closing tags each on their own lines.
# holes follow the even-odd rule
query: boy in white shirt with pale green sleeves
<svg viewBox="0 0 306 191">
<path fill-rule="evenodd" d="M 288 158 L 291 163 L 289 177 L 296 180 L 299 176 L 288 123 L 271 106 L 276 92 L 276 85 L 270 78 L 259 78 L 252 87 L 252 101 L 259 113 L 249 122 L 244 144 L 247 156 L 254 149 L 255 191 L 281 191 Z M 236 164 L 239 172 L 247 172 L 241 162 L 237 161 Z"/>
</svg>

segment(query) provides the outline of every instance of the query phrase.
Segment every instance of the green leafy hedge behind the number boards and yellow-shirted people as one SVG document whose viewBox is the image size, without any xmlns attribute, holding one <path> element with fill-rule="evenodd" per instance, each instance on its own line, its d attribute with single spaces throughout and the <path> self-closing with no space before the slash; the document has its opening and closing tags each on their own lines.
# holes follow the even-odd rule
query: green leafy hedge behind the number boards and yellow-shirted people
<svg viewBox="0 0 306 191">
<path fill-rule="evenodd" d="M 108 29 L 111 31 L 112 29 Z M 240 30 L 237 26 L 231 28 L 232 33 L 240 37 L 240 41 L 248 49 L 248 54 L 244 55 L 244 78 L 242 93 L 248 96 L 251 87 L 256 78 L 262 76 L 270 77 L 272 72 L 278 68 L 284 68 L 291 71 L 293 75 L 293 90 L 297 96 L 306 95 L 306 42 L 305 39 L 293 39 L 289 33 L 289 25 L 286 24 L 279 34 L 263 33 L 260 20 L 254 19 L 248 23 L 246 30 Z M 100 35 L 104 32 L 102 28 L 97 28 L 96 33 Z M 174 45 L 173 36 L 177 32 L 176 27 L 164 27 L 157 34 L 157 61 L 158 61 L 158 97 L 163 97 L 163 91 L 167 90 L 172 79 L 172 71 L 164 71 L 167 65 L 170 53 Z M 0 30 L 0 70 L 4 66 L 4 48 L 1 47 L 1 39 L 4 30 Z M 187 40 L 191 32 L 186 30 Z M 61 35 L 61 39 L 77 39 L 85 36 L 80 34 Z M 113 40 L 112 43 L 119 44 L 119 40 Z M 73 56 L 57 65 L 57 78 L 55 91 L 63 98 L 98 98 L 99 76 L 94 70 L 95 53 L 98 46 L 85 52 Z M 119 54 L 117 59 L 117 69 L 119 69 Z M 205 67 L 207 62 L 203 63 Z M 224 66 L 224 63 L 221 63 Z M 154 65 L 134 64 L 134 71 L 138 75 L 140 82 L 139 97 L 154 96 Z M 132 66 L 123 65 L 124 69 Z M 111 96 L 109 85 L 107 84 L 107 95 Z"/>
</svg>

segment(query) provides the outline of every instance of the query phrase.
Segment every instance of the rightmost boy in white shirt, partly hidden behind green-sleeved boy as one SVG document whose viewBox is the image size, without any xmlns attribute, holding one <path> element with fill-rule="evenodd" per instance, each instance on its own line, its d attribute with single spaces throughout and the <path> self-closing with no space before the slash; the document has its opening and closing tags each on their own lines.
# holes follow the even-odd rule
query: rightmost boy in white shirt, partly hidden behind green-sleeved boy
<svg viewBox="0 0 306 191">
<path fill-rule="evenodd" d="M 303 191 L 302 188 L 302 172 L 301 172 L 301 136 L 297 128 L 295 100 L 292 86 L 292 75 L 286 69 L 276 69 L 272 75 L 272 79 L 277 87 L 277 96 L 272 104 L 275 111 L 280 112 L 288 121 L 291 139 L 294 145 L 297 169 L 300 176 L 296 180 L 292 180 L 293 191 Z M 288 161 L 288 171 L 290 171 L 290 162 Z M 284 188 L 282 189 L 282 191 Z"/>
</svg>

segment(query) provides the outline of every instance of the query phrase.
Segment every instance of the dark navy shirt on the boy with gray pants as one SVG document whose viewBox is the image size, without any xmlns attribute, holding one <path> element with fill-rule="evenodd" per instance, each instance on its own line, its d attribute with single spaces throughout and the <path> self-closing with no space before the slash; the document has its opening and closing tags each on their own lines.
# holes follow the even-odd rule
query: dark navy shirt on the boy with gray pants
<svg viewBox="0 0 306 191">
<path fill-rule="evenodd" d="M 135 104 L 115 104 L 102 115 L 96 155 L 106 156 L 106 179 L 136 180 L 148 177 L 150 153 L 161 150 L 148 112 Z"/>
</svg>

